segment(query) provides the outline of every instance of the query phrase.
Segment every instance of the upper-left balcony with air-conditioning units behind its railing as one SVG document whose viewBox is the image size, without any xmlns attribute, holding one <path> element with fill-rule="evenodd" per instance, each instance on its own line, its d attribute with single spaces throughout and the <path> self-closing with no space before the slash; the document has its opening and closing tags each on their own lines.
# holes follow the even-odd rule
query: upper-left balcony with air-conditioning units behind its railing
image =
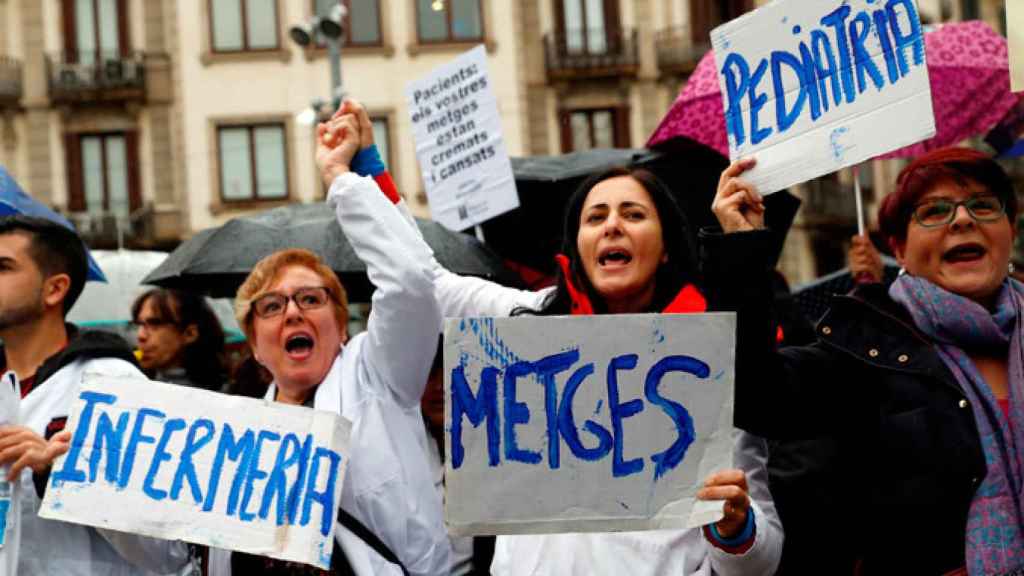
<svg viewBox="0 0 1024 576">
<path fill-rule="evenodd" d="M 145 65 L 141 52 L 47 55 L 46 77 L 50 99 L 56 105 L 145 100 Z"/>
</svg>

